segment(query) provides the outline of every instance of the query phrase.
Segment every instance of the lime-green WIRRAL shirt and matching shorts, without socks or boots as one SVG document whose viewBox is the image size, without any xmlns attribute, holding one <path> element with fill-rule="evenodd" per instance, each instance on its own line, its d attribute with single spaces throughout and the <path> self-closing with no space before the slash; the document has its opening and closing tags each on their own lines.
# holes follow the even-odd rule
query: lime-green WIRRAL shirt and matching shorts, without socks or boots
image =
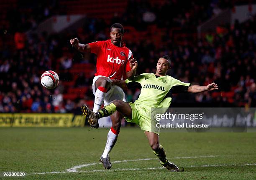
<svg viewBox="0 0 256 180">
<path fill-rule="evenodd" d="M 166 111 L 172 102 L 172 94 L 187 92 L 191 85 L 169 75 L 156 76 L 154 73 L 143 73 L 125 82 L 128 88 L 141 89 L 139 98 L 134 103 L 128 102 L 132 109 L 132 119 L 125 117 L 125 120 L 136 123 L 142 130 L 158 135 L 160 129 L 156 127 L 158 122 L 153 114 L 159 113 L 157 110 Z"/>
</svg>

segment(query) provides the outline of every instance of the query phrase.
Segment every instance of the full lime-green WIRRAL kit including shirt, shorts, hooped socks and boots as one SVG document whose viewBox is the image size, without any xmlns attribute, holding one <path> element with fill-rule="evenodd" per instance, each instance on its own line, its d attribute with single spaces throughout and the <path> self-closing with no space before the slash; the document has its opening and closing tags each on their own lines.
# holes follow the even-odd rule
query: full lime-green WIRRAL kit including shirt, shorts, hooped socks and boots
<svg viewBox="0 0 256 180">
<path fill-rule="evenodd" d="M 127 122 L 134 122 L 141 127 L 142 130 L 152 132 L 157 135 L 159 135 L 160 129 L 156 126 L 158 123 L 156 120 L 156 114 L 166 112 L 172 102 L 173 93 L 187 92 L 191 85 L 168 75 L 157 76 L 154 73 L 143 73 L 134 77 L 133 80 L 125 80 L 125 82 L 128 88 L 137 86 L 141 89 L 139 98 L 134 103 L 128 102 L 132 110 L 132 116 L 131 119 L 124 116 L 125 120 Z M 115 102 L 112 102 L 100 109 L 96 114 L 91 110 L 88 110 L 89 108 L 86 105 L 82 106 L 82 110 L 86 115 L 90 112 L 90 115 L 94 116 L 91 117 L 92 120 L 98 120 L 101 117 L 112 115 L 117 110 L 117 107 L 118 106 Z M 148 137 L 148 139 L 152 138 L 154 137 Z M 184 168 L 179 170 L 177 165 L 170 163 L 167 160 L 166 153 L 162 145 L 159 144 L 158 148 L 151 148 L 154 154 L 159 158 L 160 163 L 164 168 L 172 171 L 184 171 Z"/>
</svg>

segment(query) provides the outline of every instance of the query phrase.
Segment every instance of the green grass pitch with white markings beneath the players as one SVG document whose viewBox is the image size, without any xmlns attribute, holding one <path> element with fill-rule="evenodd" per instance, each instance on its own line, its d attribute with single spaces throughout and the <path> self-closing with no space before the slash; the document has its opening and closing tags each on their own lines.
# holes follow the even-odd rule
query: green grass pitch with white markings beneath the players
<svg viewBox="0 0 256 180">
<path fill-rule="evenodd" d="M 121 128 L 110 153 L 111 170 L 99 158 L 108 129 L 0 128 L 0 179 L 256 179 L 256 133 L 160 133 L 167 158 L 184 167 L 161 168 L 139 128 Z M 73 172 L 68 172 L 73 171 Z M 25 172 L 25 177 L 3 177 Z"/>
</svg>

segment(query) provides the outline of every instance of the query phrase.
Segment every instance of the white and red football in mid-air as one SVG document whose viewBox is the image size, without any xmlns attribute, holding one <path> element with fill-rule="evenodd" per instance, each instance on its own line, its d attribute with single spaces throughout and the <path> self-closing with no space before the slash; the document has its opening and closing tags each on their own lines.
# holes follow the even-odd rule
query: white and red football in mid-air
<svg viewBox="0 0 256 180">
<path fill-rule="evenodd" d="M 59 85 L 59 76 L 54 71 L 46 71 L 41 75 L 41 84 L 47 89 L 54 89 Z"/>
</svg>

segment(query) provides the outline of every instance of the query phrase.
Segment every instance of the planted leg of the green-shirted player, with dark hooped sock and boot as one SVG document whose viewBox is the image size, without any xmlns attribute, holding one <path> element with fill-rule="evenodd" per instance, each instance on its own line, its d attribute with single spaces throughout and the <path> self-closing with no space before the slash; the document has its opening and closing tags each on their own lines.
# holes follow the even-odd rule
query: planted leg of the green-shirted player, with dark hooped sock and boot
<svg viewBox="0 0 256 180">
<path fill-rule="evenodd" d="M 154 154 L 159 158 L 160 164 L 164 166 L 164 168 L 171 170 L 171 171 L 184 171 L 179 170 L 178 166 L 175 165 L 174 163 L 170 163 L 167 158 L 166 158 L 166 153 L 164 151 L 164 148 L 162 145 L 159 143 L 159 135 L 156 133 L 144 131 L 147 138 L 148 138 L 148 143 L 151 146 L 151 149 L 153 150 Z"/>
</svg>

